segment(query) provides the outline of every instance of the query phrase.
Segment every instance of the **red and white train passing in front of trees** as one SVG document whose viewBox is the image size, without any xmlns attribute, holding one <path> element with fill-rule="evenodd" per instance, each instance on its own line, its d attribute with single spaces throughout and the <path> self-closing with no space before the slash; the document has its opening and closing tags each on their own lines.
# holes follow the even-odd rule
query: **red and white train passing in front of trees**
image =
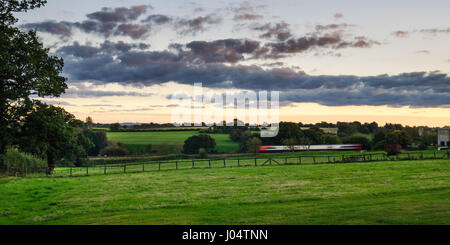
<svg viewBox="0 0 450 245">
<path fill-rule="evenodd" d="M 362 150 L 360 144 L 341 144 L 341 145 L 295 145 L 294 151 L 357 151 Z M 259 147 L 260 152 L 280 152 L 292 151 L 287 145 L 263 145 Z"/>
</svg>

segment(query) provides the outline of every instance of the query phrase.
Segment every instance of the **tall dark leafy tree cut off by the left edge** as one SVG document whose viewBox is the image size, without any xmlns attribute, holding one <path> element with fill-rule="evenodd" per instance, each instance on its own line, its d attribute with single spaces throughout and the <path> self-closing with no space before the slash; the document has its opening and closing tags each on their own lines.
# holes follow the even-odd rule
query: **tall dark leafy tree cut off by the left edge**
<svg viewBox="0 0 450 245">
<path fill-rule="evenodd" d="M 67 89 L 64 62 L 50 56 L 34 31 L 22 32 L 14 13 L 43 6 L 43 0 L 0 0 L 0 154 L 13 143 L 33 107 L 30 96 L 58 97 Z M 1 163 L 0 163 L 1 164 Z"/>
</svg>

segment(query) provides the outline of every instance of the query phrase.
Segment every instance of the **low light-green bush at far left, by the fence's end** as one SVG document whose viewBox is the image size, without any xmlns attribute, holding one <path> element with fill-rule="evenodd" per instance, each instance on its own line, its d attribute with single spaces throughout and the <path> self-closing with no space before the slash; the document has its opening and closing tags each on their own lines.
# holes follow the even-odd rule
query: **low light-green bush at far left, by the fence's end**
<svg viewBox="0 0 450 245">
<path fill-rule="evenodd" d="M 7 172 L 10 174 L 36 173 L 47 168 L 47 161 L 29 153 L 20 152 L 15 148 L 8 149 L 3 160 Z"/>
</svg>

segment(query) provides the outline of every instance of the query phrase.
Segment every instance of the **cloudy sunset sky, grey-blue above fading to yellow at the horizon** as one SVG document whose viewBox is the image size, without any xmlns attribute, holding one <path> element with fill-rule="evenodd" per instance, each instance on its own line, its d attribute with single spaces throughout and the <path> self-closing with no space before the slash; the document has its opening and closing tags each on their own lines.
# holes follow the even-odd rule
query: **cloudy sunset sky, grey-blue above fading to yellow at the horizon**
<svg viewBox="0 0 450 245">
<path fill-rule="evenodd" d="M 19 13 L 95 122 L 170 122 L 194 83 L 279 91 L 280 120 L 450 125 L 450 1 L 68 1 Z"/>
</svg>

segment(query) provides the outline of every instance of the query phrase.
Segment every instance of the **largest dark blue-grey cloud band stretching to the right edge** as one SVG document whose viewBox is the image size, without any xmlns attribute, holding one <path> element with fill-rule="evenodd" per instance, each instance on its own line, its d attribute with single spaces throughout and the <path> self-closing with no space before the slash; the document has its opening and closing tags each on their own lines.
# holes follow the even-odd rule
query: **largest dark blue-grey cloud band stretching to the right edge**
<svg viewBox="0 0 450 245">
<path fill-rule="evenodd" d="M 235 42 L 217 41 L 223 47 Z M 227 44 L 225 44 L 227 43 Z M 253 48 L 234 48 L 251 52 Z M 215 44 L 213 42 L 212 44 Z M 211 45 L 207 44 L 206 46 Z M 242 49 L 241 49 L 242 48 Z M 187 52 L 187 53 L 185 53 Z M 196 63 L 191 50 L 129 51 L 113 59 L 105 53 L 86 58 L 67 57 L 65 72 L 74 80 L 97 84 L 120 83 L 149 86 L 175 81 L 180 84 L 203 82 L 209 88 L 279 90 L 284 102 L 317 102 L 324 105 L 447 106 L 450 78 L 439 72 L 415 72 L 379 76 L 312 76 L 291 68 L 263 69 L 256 65 Z M 201 57 L 202 49 L 198 57 Z M 72 92 L 73 93 L 73 92 Z M 97 94 L 101 93 L 101 94 Z M 106 94 L 105 94 L 106 93 Z M 70 92 L 69 92 L 70 94 Z M 147 96 L 139 93 L 85 91 L 78 96 Z"/>
</svg>

